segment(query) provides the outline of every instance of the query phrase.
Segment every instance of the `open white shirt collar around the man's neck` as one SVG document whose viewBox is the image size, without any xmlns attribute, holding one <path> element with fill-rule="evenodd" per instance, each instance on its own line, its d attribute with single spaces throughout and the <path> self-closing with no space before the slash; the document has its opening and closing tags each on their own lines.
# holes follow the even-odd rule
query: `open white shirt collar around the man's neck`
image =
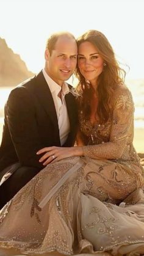
<svg viewBox="0 0 144 256">
<path fill-rule="evenodd" d="M 49 86 L 49 89 L 52 92 L 56 92 L 56 94 L 58 95 L 60 90 L 62 89 L 62 94 L 63 96 L 65 96 L 67 93 L 70 92 L 67 82 L 63 82 L 62 87 L 59 86 L 59 84 L 57 84 L 57 82 L 55 82 L 52 78 L 50 78 L 50 76 L 46 73 L 45 68 L 43 68 L 43 76 L 46 79 L 46 82 Z"/>
</svg>

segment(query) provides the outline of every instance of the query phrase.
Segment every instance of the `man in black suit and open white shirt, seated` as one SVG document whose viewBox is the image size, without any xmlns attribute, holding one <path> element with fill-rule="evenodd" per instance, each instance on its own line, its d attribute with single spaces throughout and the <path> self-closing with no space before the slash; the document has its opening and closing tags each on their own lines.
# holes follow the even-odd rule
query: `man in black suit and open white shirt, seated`
<svg viewBox="0 0 144 256">
<path fill-rule="evenodd" d="M 38 150 L 74 145 L 77 109 L 65 80 L 73 74 L 76 60 L 73 35 L 53 34 L 46 45 L 45 68 L 10 93 L 0 148 L 0 207 L 43 169 Z"/>
</svg>

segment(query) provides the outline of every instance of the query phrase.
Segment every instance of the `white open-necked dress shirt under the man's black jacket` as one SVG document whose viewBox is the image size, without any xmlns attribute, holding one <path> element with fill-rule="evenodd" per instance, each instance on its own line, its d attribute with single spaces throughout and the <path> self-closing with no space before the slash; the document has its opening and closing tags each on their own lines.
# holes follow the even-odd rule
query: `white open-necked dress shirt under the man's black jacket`
<svg viewBox="0 0 144 256">
<path fill-rule="evenodd" d="M 62 87 L 59 86 L 54 80 L 52 80 L 45 69 L 43 69 L 43 75 L 49 86 L 49 89 L 54 100 L 54 105 L 57 112 L 57 120 L 59 125 L 60 144 L 63 145 L 67 141 L 68 133 L 70 132 L 70 121 L 68 117 L 67 104 L 65 102 L 65 95 L 69 93 L 69 88 L 66 82 L 63 82 Z M 58 96 L 61 92 L 61 99 Z"/>
</svg>

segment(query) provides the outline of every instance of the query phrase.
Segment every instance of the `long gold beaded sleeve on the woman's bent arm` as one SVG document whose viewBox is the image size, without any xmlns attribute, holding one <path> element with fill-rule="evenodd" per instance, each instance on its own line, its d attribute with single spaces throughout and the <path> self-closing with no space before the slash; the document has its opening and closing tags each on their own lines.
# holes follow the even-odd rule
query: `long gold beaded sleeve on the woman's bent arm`
<svg viewBox="0 0 144 256">
<path fill-rule="evenodd" d="M 133 132 L 134 103 L 128 88 L 118 89 L 113 100 L 112 128 L 109 142 L 84 146 L 84 156 L 91 158 L 118 159 Z"/>
</svg>

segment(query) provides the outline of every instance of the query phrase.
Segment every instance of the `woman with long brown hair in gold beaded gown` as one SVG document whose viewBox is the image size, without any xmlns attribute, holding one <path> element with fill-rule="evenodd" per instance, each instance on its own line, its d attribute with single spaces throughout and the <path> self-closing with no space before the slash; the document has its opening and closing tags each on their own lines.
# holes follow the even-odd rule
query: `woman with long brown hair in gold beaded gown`
<svg viewBox="0 0 144 256">
<path fill-rule="evenodd" d="M 77 146 L 37 152 L 45 152 L 40 161 L 48 166 L 1 211 L 7 255 L 9 248 L 26 255 L 144 254 L 144 181 L 132 145 L 131 93 L 101 32 L 86 32 L 77 45 Z"/>
</svg>

